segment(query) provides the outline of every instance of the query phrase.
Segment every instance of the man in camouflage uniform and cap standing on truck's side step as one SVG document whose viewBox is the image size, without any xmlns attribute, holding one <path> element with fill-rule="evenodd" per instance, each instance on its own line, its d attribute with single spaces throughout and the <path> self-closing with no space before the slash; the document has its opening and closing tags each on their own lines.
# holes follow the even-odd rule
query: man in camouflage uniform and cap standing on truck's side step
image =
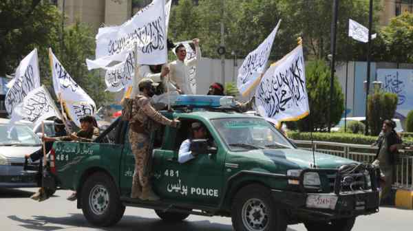
<svg viewBox="0 0 413 231">
<path fill-rule="evenodd" d="M 148 164 L 149 153 L 149 128 L 148 124 L 157 122 L 176 127 L 179 120 L 169 120 L 151 106 L 150 99 L 155 92 L 152 80 L 141 80 L 138 87 L 141 95 L 134 98 L 132 104 L 132 117 L 129 120 L 129 142 L 132 153 L 135 155 L 135 173 L 132 181 L 131 198 L 156 201 L 159 197 L 153 192 L 149 180 L 149 171 L 145 170 Z"/>
</svg>

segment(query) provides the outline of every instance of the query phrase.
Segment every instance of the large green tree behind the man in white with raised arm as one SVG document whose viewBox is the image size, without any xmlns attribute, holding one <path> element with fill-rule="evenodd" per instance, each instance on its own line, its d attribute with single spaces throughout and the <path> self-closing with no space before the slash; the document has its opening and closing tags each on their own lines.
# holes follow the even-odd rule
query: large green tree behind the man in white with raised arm
<svg viewBox="0 0 413 231">
<path fill-rule="evenodd" d="M 225 0 L 224 41 L 226 58 L 231 52 L 244 57 L 254 50 L 271 33 L 281 13 L 278 0 Z M 171 10 L 169 37 L 173 41 L 200 38 L 202 56 L 219 58 L 217 49 L 221 40 L 222 7 L 220 1 L 200 0 L 195 5 L 191 0 L 181 0 Z M 271 9 L 271 10 L 268 10 Z M 206 13 L 207 12 L 207 13 Z M 277 60 L 297 45 L 294 35 L 284 34 L 284 23 L 278 32 L 270 58 Z"/>
</svg>

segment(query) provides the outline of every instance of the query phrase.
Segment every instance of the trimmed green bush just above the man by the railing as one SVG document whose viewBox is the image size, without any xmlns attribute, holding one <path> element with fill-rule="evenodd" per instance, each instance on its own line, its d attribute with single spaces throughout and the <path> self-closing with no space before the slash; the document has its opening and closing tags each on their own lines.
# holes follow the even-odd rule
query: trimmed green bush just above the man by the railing
<svg viewBox="0 0 413 231">
<path fill-rule="evenodd" d="M 391 120 L 396 111 L 397 94 L 376 91 L 368 96 L 368 125 L 372 135 L 379 135 L 384 120 Z"/>
</svg>

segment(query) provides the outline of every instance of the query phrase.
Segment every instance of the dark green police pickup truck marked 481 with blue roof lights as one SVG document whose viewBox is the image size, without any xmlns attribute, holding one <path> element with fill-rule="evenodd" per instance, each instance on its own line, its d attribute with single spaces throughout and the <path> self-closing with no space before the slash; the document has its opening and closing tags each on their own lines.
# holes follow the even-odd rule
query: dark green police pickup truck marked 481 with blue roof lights
<svg viewBox="0 0 413 231">
<path fill-rule="evenodd" d="M 370 166 L 295 147 L 255 115 L 223 109 L 220 96 L 180 96 L 168 118 L 151 134 L 153 190 L 160 201 L 131 199 L 134 155 L 127 121 L 116 120 L 95 142 L 55 142 L 50 173 L 58 189 L 76 190 L 77 207 L 93 225 L 117 223 L 125 206 L 150 208 L 165 221 L 189 214 L 231 217 L 233 228 L 351 230 L 359 215 L 379 211 L 379 192 Z M 207 128 L 195 140 L 195 159 L 180 164 L 178 148 L 192 122 Z M 196 150 L 195 150 L 196 149 Z"/>
</svg>

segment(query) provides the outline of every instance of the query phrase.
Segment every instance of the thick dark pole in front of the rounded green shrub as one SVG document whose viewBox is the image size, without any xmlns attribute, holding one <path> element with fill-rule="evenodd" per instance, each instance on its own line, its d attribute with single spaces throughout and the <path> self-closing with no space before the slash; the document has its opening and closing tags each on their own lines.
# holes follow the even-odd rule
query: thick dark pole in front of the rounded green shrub
<svg viewBox="0 0 413 231">
<path fill-rule="evenodd" d="M 336 32 L 337 32 L 337 14 L 339 13 L 339 0 L 334 0 L 332 4 L 332 21 L 331 21 L 331 78 L 330 78 L 330 110 L 328 110 L 328 132 L 331 130 L 331 116 L 332 116 L 332 96 L 334 87 L 335 74 L 335 47 L 336 47 Z"/>
</svg>

